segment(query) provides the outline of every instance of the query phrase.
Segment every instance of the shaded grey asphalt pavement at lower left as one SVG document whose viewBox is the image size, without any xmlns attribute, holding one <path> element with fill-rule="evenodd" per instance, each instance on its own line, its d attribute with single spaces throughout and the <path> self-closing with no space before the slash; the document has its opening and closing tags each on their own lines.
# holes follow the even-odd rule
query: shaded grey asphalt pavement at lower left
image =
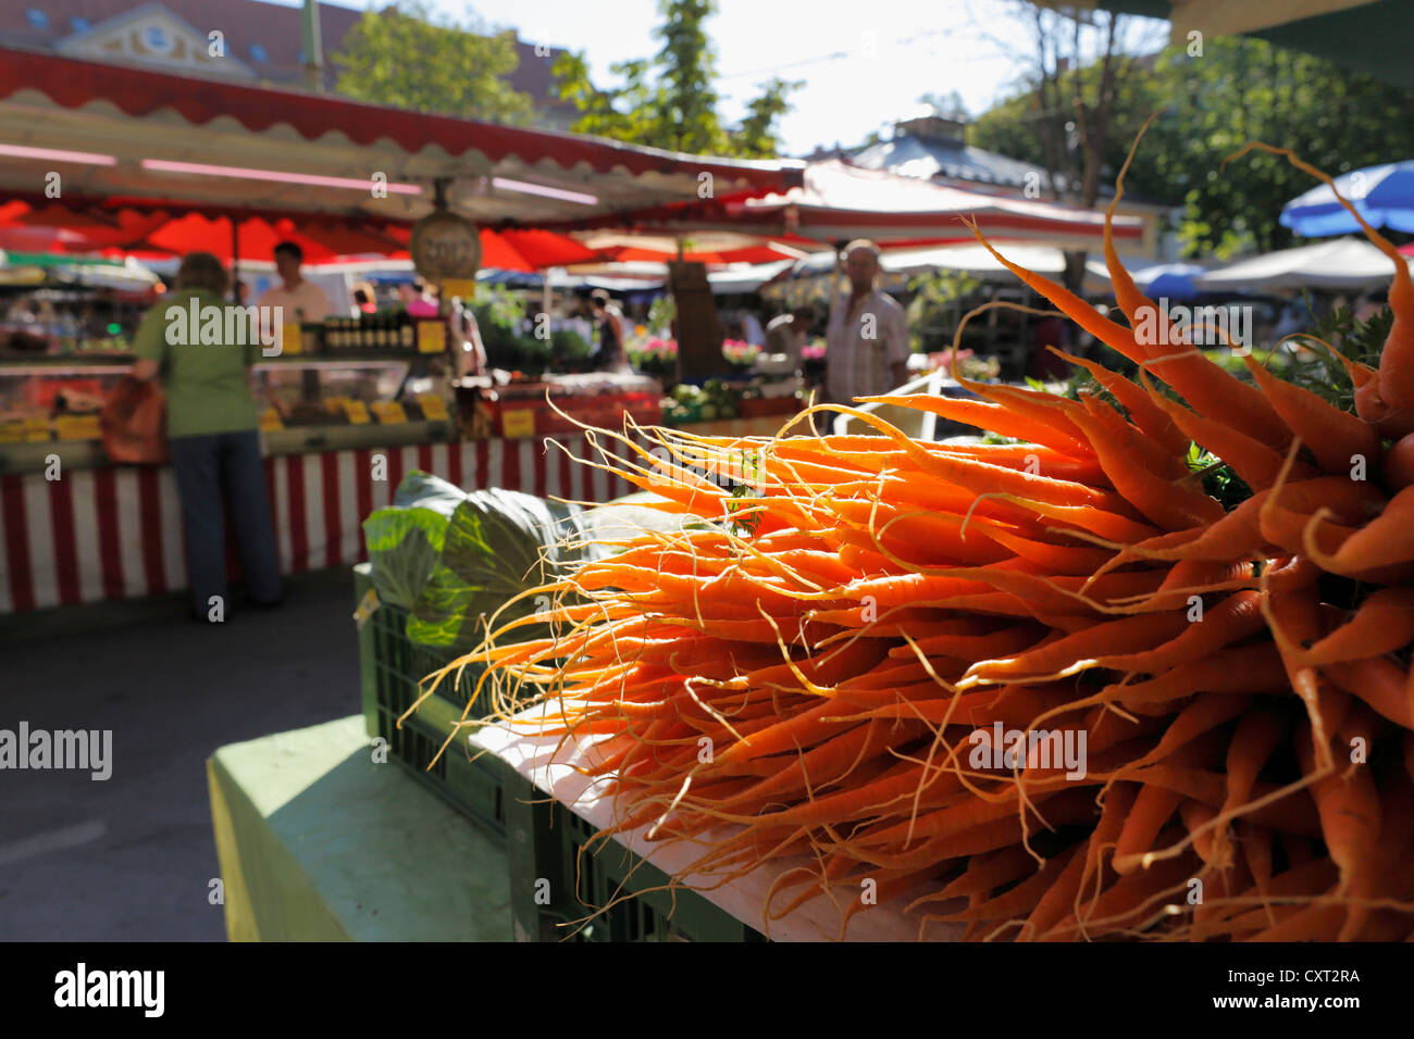
<svg viewBox="0 0 1414 1039">
<path fill-rule="evenodd" d="M 106 780 L 0 768 L 0 940 L 225 940 L 206 758 L 358 714 L 352 612 L 342 570 L 221 625 L 174 597 L 0 629 L 0 765 L 21 722 L 112 734 Z"/>
</svg>

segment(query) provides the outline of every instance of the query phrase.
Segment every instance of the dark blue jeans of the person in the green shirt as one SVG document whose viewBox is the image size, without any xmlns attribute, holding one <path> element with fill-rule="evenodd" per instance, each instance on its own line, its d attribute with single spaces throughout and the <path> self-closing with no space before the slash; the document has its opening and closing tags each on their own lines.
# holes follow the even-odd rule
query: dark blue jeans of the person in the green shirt
<svg viewBox="0 0 1414 1039">
<path fill-rule="evenodd" d="M 280 598 L 280 560 L 274 547 L 274 520 L 266 493 L 260 434 L 212 433 L 201 437 L 173 437 L 173 472 L 187 526 L 187 573 L 192 609 L 202 618 L 212 612 L 212 597 L 221 597 L 221 616 L 229 612 L 226 598 L 226 516 L 221 491 L 230 498 L 230 516 L 240 544 L 240 570 L 246 595 L 260 604 Z"/>
</svg>

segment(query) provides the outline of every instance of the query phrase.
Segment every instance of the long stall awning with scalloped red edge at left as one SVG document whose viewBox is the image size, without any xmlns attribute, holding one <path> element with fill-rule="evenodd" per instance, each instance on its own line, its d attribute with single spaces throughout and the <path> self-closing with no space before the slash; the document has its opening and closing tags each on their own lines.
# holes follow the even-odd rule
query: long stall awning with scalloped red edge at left
<svg viewBox="0 0 1414 1039">
<path fill-rule="evenodd" d="M 430 185 L 484 225 L 540 225 L 786 191 L 803 164 L 684 155 L 0 48 L 0 201 L 44 192 L 414 221 Z M 386 196 L 372 191 L 385 181 Z"/>
</svg>

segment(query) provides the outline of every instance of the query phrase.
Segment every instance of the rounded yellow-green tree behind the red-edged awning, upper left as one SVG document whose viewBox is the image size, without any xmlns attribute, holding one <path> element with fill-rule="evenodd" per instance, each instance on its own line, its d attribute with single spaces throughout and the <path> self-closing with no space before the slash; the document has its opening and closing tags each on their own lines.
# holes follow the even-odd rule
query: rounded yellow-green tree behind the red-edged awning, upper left
<svg viewBox="0 0 1414 1039">
<path fill-rule="evenodd" d="M 512 30 L 438 18 L 426 0 L 366 11 L 332 55 L 335 89 L 358 100 L 495 123 L 525 123 L 530 95 L 510 86 Z"/>
</svg>

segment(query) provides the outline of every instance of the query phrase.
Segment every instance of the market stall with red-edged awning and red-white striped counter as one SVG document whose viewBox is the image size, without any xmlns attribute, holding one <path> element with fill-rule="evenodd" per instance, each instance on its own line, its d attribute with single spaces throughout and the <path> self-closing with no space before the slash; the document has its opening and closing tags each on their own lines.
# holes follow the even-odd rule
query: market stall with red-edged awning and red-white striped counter
<svg viewBox="0 0 1414 1039">
<path fill-rule="evenodd" d="M 264 259 L 284 237 L 307 243 L 310 259 L 406 254 L 438 187 L 451 212 L 482 225 L 485 263 L 567 264 L 597 254 L 537 225 L 696 198 L 703 172 L 727 196 L 800 178 L 797 163 L 680 155 L 0 48 L 4 140 L 24 147 L 0 148 L 0 225 L 52 232 L 66 250 L 201 249 L 235 262 Z M 59 199 L 45 191 L 51 170 Z M 133 322 L 113 324 L 113 342 L 96 351 L 52 332 L 0 344 L 0 612 L 184 585 L 171 471 L 113 466 L 98 442 L 96 403 L 129 363 L 122 339 Z M 520 409 L 509 430 L 478 424 L 475 407 L 458 411 L 447 332 L 441 319 L 341 315 L 287 325 L 281 355 L 256 366 L 286 573 L 362 558 L 359 517 L 413 466 L 584 500 L 628 489 L 547 450 L 549 434 L 587 451 L 573 425 L 550 428 L 537 407 Z M 563 396 L 581 404 L 571 413 L 608 417 L 602 401 Z M 619 417 L 639 404 L 638 417 L 656 416 L 656 397 L 611 403 Z"/>
</svg>

